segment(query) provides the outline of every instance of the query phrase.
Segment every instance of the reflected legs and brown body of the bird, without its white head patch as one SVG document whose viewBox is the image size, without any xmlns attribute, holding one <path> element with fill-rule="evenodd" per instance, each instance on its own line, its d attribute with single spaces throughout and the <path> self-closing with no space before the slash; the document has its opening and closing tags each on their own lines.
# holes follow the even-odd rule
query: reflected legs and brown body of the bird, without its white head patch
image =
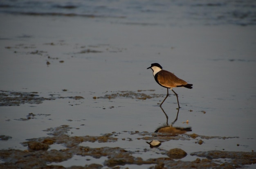
<svg viewBox="0 0 256 169">
<path fill-rule="evenodd" d="M 160 108 L 164 112 L 164 109 L 162 107 L 160 107 Z M 184 134 L 186 132 L 191 132 L 192 131 L 192 127 L 173 127 L 173 124 L 178 119 L 179 111 L 180 111 L 180 109 L 177 110 L 176 119 L 171 123 L 171 125 L 168 125 L 168 116 L 164 112 L 164 115 L 166 116 L 166 124 L 164 123 L 164 125 L 158 127 L 155 130 L 155 132 L 156 133 L 169 133 L 169 134 L 171 134 L 169 136 L 177 136 L 178 134 Z"/>
</svg>

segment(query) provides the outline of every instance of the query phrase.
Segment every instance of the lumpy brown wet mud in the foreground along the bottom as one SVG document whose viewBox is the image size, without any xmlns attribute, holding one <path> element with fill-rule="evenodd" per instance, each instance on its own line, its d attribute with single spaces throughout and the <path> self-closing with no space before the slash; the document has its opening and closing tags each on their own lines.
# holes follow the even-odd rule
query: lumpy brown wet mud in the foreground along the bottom
<svg viewBox="0 0 256 169">
<path fill-rule="evenodd" d="M 219 169 L 235 169 L 243 168 L 245 165 L 256 163 L 256 152 L 238 152 L 238 151 L 198 151 L 190 155 L 196 156 L 194 161 L 182 161 L 187 153 L 179 148 L 170 149 L 166 151 L 159 149 L 163 157 L 143 159 L 136 157 L 137 151 L 128 151 L 121 147 L 97 147 L 92 148 L 88 146 L 81 146 L 81 143 L 98 142 L 109 143 L 118 142 L 118 133 L 112 132 L 103 134 L 101 136 L 69 136 L 67 132 L 72 129 L 68 125 L 61 125 L 55 128 L 45 129 L 48 137 L 31 138 L 26 142 L 21 143 L 27 147 L 26 150 L 19 149 L 2 149 L 0 150 L 1 163 L 0 168 L 24 168 L 24 169 L 101 169 L 112 168 L 119 169 L 124 165 L 145 165 L 145 168 L 150 169 L 164 169 L 164 168 L 219 168 Z M 196 140 L 198 138 L 216 138 L 209 136 L 199 136 L 197 134 L 181 134 L 178 136 L 170 136 L 168 133 L 150 133 L 150 132 L 128 132 L 130 135 L 136 136 L 137 140 Z M 219 137 L 219 139 L 228 139 Z M 63 148 L 56 150 L 50 149 L 51 146 L 62 145 Z M 47 151 L 48 150 L 48 151 Z M 144 149 L 144 152 L 150 151 Z M 90 156 L 99 159 L 98 163 L 92 163 L 84 166 L 63 167 L 61 165 L 51 165 L 53 162 L 63 162 L 71 159 L 73 156 Z M 101 157 L 106 157 L 106 160 L 101 160 Z M 222 159 L 222 160 L 220 160 Z M 224 159 L 224 162 L 223 162 Z M 89 161 L 90 159 L 88 159 Z M 127 167 L 126 167 L 127 168 Z"/>
</svg>

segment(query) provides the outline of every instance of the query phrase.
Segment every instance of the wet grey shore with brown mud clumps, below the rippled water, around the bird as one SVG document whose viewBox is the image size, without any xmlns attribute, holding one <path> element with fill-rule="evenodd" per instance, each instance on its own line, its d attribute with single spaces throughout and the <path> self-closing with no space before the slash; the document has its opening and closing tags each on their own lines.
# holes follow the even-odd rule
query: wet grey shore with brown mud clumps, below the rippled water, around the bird
<svg viewBox="0 0 256 169">
<path fill-rule="evenodd" d="M 255 26 L 0 18 L 0 167 L 255 167 Z M 179 111 L 154 62 L 193 83 Z"/>
</svg>

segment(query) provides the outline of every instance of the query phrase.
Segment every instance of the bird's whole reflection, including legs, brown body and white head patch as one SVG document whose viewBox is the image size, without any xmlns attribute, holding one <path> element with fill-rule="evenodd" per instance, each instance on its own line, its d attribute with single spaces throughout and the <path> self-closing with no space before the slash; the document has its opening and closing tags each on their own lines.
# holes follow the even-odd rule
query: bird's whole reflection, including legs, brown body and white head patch
<svg viewBox="0 0 256 169">
<path fill-rule="evenodd" d="M 160 107 L 162 111 L 164 112 L 164 109 Z M 157 134 L 157 136 L 177 136 L 179 134 L 184 134 L 186 132 L 191 132 L 192 127 L 173 127 L 173 124 L 177 121 L 178 115 L 179 115 L 180 109 L 177 110 L 176 119 L 169 125 L 168 124 L 168 116 L 164 112 L 164 115 L 166 116 L 166 123 L 164 123 L 162 126 L 158 127 L 155 130 L 155 133 L 165 133 L 165 134 Z M 168 133 L 166 135 L 166 133 Z M 161 145 L 161 141 L 159 140 L 152 140 L 150 142 L 146 142 L 150 145 L 150 148 L 153 147 L 159 147 Z"/>
</svg>

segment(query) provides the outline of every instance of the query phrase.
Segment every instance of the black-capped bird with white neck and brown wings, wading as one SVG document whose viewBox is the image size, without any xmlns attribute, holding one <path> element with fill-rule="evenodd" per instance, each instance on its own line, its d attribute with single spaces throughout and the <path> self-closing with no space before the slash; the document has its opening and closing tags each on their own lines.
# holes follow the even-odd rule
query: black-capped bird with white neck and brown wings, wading
<svg viewBox="0 0 256 169">
<path fill-rule="evenodd" d="M 164 103 L 165 99 L 169 96 L 168 89 L 171 89 L 177 97 L 178 109 L 180 109 L 178 94 L 173 90 L 173 88 L 185 87 L 185 88 L 192 89 L 193 84 L 187 83 L 186 81 L 178 78 L 173 73 L 168 72 L 167 70 L 163 70 L 163 67 L 157 63 L 151 64 L 151 66 L 148 67 L 147 69 L 149 69 L 149 68 L 151 70 L 153 70 L 153 76 L 155 78 L 155 81 L 160 86 L 167 88 L 167 95 L 164 98 L 164 100 L 162 101 L 162 103 L 160 104 L 160 107 L 162 108 L 162 104 Z"/>
</svg>

